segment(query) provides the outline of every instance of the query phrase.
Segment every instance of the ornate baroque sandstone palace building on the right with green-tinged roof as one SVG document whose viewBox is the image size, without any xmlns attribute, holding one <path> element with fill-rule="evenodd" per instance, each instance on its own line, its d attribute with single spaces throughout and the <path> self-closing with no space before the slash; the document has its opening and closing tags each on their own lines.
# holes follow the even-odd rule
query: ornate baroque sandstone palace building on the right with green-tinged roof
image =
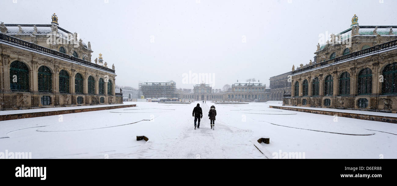
<svg viewBox="0 0 397 186">
<path fill-rule="evenodd" d="M 292 68 L 283 104 L 397 111 L 397 26 L 359 26 L 318 44 L 314 62 Z"/>
</svg>

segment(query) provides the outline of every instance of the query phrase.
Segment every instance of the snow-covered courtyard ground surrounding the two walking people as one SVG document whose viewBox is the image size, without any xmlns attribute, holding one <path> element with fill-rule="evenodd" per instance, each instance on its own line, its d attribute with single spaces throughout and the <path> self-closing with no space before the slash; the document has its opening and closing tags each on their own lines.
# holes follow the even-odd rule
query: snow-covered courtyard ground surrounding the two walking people
<svg viewBox="0 0 397 186">
<path fill-rule="evenodd" d="M 192 110 L 203 110 L 194 129 Z M 266 158 L 304 153 L 304 158 L 397 158 L 397 125 L 249 104 L 128 102 L 119 108 L 0 121 L 0 152 L 31 152 L 32 158 Z M 216 107 L 215 130 L 208 110 Z M 2 111 L 3 112 L 3 111 Z M 12 112 L 12 111 L 8 111 Z M 18 111 L 21 112 L 21 111 Z M 145 135 L 148 141 L 136 140 Z M 269 157 L 269 154 L 271 155 Z"/>
</svg>

